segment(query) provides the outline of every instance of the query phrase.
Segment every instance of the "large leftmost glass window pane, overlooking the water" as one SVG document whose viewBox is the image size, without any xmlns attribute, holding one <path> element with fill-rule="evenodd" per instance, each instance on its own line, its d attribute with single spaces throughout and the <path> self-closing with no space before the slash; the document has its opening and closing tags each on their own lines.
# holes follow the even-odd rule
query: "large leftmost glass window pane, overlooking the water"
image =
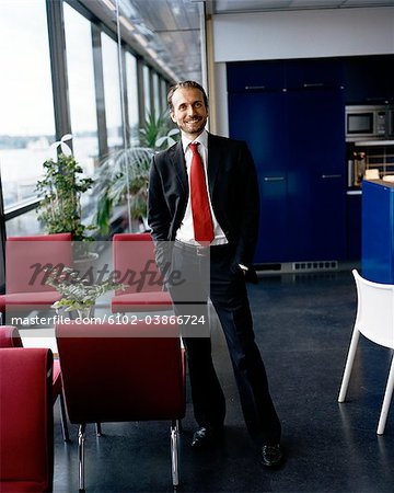
<svg viewBox="0 0 394 493">
<path fill-rule="evenodd" d="M 35 196 L 55 157 L 55 117 L 45 0 L 0 1 L 0 170 L 4 204 Z"/>
</svg>

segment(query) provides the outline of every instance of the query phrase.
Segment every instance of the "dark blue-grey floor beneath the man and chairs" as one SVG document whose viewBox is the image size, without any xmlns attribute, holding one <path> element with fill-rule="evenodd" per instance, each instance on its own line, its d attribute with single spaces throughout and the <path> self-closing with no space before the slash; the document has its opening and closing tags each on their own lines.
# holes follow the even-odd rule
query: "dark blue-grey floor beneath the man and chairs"
<svg viewBox="0 0 394 493">
<path fill-rule="evenodd" d="M 282 420 L 286 465 L 255 461 L 218 329 L 215 360 L 228 401 L 223 443 L 190 449 L 192 406 L 181 435 L 182 492 L 393 492 L 394 411 L 376 435 L 390 352 L 362 340 L 348 401 L 337 395 L 356 311 L 350 272 L 265 276 L 251 285 L 255 332 Z M 56 410 L 55 492 L 78 490 L 77 428 L 61 439 Z M 166 423 L 103 425 L 86 437 L 86 492 L 172 491 Z"/>
</svg>

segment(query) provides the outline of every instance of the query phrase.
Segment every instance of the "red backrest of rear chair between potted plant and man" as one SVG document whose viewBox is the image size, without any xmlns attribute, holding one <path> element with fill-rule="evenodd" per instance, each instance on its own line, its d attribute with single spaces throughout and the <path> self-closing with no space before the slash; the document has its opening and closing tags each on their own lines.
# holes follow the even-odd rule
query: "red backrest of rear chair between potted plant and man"
<svg viewBox="0 0 394 493">
<path fill-rule="evenodd" d="M 120 282 L 130 285 L 124 291 L 149 293 L 162 290 L 162 275 L 154 259 L 154 244 L 150 233 L 118 233 L 113 237 L 114 268 Z"/>
</svg>

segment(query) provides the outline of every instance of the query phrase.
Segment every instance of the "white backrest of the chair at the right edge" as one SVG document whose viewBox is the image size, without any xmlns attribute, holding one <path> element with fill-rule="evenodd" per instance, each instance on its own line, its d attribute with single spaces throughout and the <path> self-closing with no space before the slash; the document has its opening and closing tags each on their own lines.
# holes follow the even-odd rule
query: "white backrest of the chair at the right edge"
<svg viewBox="0 0 394 493">
<path fill-rule="evenodd" d="M 354 270 L 357 286 L 357 329 L 369 340 L 394 348 L 394 286 L 367 280 Z"/>
</svg>

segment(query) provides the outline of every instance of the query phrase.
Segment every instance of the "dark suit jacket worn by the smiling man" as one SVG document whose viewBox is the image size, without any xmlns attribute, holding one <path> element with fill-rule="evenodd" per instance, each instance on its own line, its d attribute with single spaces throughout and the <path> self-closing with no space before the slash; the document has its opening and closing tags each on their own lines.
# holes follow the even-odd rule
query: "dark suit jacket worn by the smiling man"
<svg viewBox="0 0 394 493">
<path fill-rule="evenodd" d="M 215 216 L 234 248 L 234 264 L 251 266 L 257 241 L 256 171 L 244 141 L 208 134 L 208 187 Z M 155 242 L 172 241 L 189 194 L 182 142 L 155 154 L 149 181 L 148 222 Z M 162 263 L 163 259 L 159 259 Z"/>
</svg>

